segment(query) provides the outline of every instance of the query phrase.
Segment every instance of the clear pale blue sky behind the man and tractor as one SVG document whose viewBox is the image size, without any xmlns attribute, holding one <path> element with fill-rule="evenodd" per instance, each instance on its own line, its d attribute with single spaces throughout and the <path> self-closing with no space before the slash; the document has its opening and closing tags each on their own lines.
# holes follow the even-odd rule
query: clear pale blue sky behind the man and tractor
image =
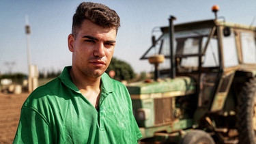
<svg viewBox="0 0 256 144">
<path fill-rule="evenodd" d="M 82 1 L 68 0 L 0 0 L 0 74 L 27 74 L 27 41 L 25 16 L 31 26 L 31 63 L 45 70 L 62 70 L 71 65 L 67 38 L 71 32 L 72 15 Z M 154 27 L 214 18 L 212 5 L 219 5 L 218 16 L 227 21 L 256 25 L 255 0 L 95 0 L 115 10 L 121 18 L 114 57 L 130 63 L 135 72 L 154 70 L 146 60 L 139 60 L 151 45 Z M 13 63 L 9 69 L 7 63 Z"/>
</svg>

